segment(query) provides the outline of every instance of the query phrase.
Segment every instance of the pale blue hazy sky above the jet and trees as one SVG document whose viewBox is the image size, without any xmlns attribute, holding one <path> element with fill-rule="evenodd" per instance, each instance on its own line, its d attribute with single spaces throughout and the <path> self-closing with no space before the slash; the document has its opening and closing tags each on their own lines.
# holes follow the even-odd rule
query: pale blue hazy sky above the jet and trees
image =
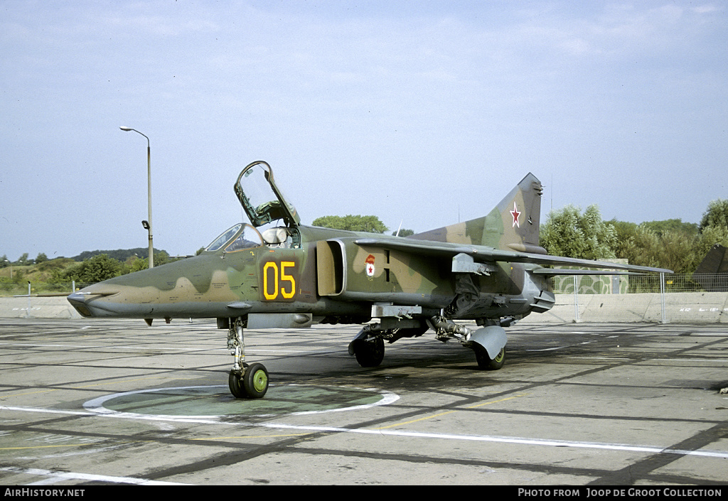
<svg viewBox="0 0 728 501">
<path fill-rule="evenodd" d="M 0 0 L 0 256 L 194 253 L 269 162 L 310 224 L 424 232 L 529 172 L 550 210 L 728 198 L 724 1 Z"/>
</svg>

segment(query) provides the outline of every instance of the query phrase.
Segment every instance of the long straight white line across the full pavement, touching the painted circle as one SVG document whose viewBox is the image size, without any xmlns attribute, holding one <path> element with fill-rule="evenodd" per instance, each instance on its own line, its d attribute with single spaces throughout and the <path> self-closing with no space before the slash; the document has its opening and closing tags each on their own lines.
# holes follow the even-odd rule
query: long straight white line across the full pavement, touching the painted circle
<svg viewBox="0 0 728 501">
<path fill-rule="evenodd" d="M 170 422 L 195 422 L 204 424 L 216 424 L 216 425 L 234 425 L 234 426 L 249 426 L 249 427 L 264 427 L 270 429 L 281 429 L 281 430 L 301 430 L 310 431 L 312 433 L 357 433 L 360 435 L 384 435 L 393 437 L 406 437 L 406 438 L 426 438 L 426 439 L 444 439 L 444 440 L 456 440 L 456 441 L 476 441 L 476 442 L 494 442 L 494 443 L 515 443 L 528 446 L 544 446 L 544 447 L 574 447 L 577 449 L 601 449 L 611 451 L 630 451 L 630 452 L 644 452 L 646 454 L 678 454 L 692 457 L 711 457 L 719 459 L 728 459 L 728 451 L 687 451 L 681 449 L 668 449 L 660 446 L 644 446 L 634 445 L 628 443 L 601 443 L 601 442 L 579 442 L 579 441 L 566 441 L 566 440 L 554 440 L 554 439 L 543 439 L 543 438 L 525 438 L 525 437 L 507 437 L 499 435 L 455 435 L 453 433 L 423 433 L 416 431 L 405 431 L 405 430 L 372 430 L 372 429 L 356 429 L 356 428 L 340 428 L 340 427 L 327 427 L 327 426 L 304 426 L 304 425 L 285 425 L 283 423 L 256 423 L 256 422 L 225 422 L 218 421 L 208 417 L 208 419 L 193 419 L 193 418 L 181 418 L 173 416 L 145 416 L 143 414 L 132 414 L 132 413 L 95 413 L 95 412 L 75 412 L 75 411 L 55 411 L 49 409 L 36 409 L 32 407 L 10 407 L 0 406 L 0 411 L 26 411 L 26 412 L 50 412 L 57 414 L 76 414 L 90 417 L 111 417 L 119 419 L 144 419 L 144 420 L 158 420 L 158 421 L 170 421 Z"/>
</svg>

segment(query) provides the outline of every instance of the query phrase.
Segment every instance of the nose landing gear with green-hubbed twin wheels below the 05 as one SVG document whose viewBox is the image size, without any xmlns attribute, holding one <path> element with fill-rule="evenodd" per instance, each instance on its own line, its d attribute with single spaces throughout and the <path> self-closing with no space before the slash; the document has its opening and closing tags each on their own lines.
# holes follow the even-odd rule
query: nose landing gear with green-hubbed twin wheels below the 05
<svg viewBox="0 0 728 501">
<path fill-rule="evenodd" d="M 228 377 L 230 392 L 235 398 L 263 398 L 268 391 L 268 371 L 262 363 L 245 363 L 244 322 L 232 319 L 228 331 L 228 348 L 235 361 Z"/>
</svg>

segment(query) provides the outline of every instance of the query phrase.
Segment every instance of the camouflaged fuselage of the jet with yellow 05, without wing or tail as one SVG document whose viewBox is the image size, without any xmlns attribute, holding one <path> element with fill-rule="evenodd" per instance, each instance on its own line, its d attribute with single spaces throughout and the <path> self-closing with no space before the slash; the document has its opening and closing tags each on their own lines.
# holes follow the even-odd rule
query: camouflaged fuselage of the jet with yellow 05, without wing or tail
<svg viewBox="0 0 728 501">
<path fill-rule="evenodd" d="M 86 317 L 306 313 L 331 322 L 365 322 L 373 304 L 417 306 L 424 316 L 443 309 L 454 318 L 523 316 L 549 291 L 547 280 L 531 275 L 529 265 L 506 263 L 470 280 L 470 291 L 463 293 L 450 256 L 356 243 L 372 236 L 400 237 L 300 225 L 285 229 L 284 240 L 264 237 L 266 232 L 247 224 L 233 229 L 199 256 L 90 285 L 68 301 Z M 322 258 L 324 247 L 338 253 L 331 265 Z M 335 285 L 327 289 L 331 281 Z"/>
</svg>

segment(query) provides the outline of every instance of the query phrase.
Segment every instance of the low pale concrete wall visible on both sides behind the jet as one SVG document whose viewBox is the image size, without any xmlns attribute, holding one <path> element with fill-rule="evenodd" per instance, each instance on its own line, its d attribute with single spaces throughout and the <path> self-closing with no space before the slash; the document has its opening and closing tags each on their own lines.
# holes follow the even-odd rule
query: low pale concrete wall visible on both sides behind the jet
<svg viewBox="0 0 728 501">
<path fill-rule="evenodd" d="M 577 296 L 579 322 L 662 321 L 659 293 L 582 294 Z M 728 293 L 685 292 L 665 294 L 668 323 L 728 323 Z M 65 296 L 0 298 L 0 317 L 81 318 Z M 549 312 L 532 313 L 522 322 L 577 321 L 573 294 L 558 294 Z"/>
</svg>

